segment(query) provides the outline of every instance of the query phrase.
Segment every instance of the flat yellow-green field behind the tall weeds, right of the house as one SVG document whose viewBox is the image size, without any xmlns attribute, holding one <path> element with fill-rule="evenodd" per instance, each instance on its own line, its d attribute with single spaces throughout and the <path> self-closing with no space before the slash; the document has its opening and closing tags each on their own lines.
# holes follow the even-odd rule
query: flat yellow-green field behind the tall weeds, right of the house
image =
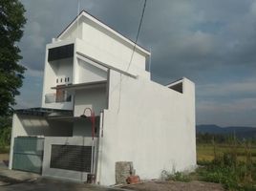
<svg viewBox="0 0 256 191">
<path fill-rule="evenodd" d="M 239 160 L 246 159 L 246 149 L 245 146 L 239 145 L 235 148 L 228 144 L 216 144 L 215 151 L 217 156 L 223 156 L 226 152 L 236 151 Z M 249 149 L 251 153 L 252 160 L 256 162 L 256 145 L 252 145 Z M 197 159 L 198 161 L 210 161 L 214 159 L 214 146 L 213 144 L 197 144 Z"/>
</svg>

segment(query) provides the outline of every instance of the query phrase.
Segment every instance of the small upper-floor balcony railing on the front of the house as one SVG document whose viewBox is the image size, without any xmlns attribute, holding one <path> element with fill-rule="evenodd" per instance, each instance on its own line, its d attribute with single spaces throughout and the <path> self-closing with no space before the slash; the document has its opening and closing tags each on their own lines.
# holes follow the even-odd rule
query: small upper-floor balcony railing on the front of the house
<svg viewBox="0 0 256 191">
<path fill-rule="evenodd" d="M 46 94 L 45 103 L 71 102 L 72 96 L 63 91 L 61 94 Z"/>
</svg>

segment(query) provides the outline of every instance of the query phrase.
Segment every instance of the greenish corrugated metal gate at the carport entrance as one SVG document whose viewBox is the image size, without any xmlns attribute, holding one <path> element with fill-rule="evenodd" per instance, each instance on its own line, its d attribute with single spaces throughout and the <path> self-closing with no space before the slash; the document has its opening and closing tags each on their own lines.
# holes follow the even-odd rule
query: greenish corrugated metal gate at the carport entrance
<svg viewBox="0 0 256 191">
<path fill-rule="evenodd" d="M 12 169 L 41 174 L 44 138 L 14 138 Z"/>
</svg>

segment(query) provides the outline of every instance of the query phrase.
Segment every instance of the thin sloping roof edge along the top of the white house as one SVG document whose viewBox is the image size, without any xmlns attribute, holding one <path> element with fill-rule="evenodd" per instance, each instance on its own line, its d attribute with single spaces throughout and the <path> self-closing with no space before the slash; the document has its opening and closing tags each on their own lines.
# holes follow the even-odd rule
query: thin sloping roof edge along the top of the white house
<svg viewBox="0 0 256 191">
<path fill-rule="evenodd" d="M 111 27 L 109 27 L 108 25 L 103 23 L 102 21 L 98 20 L 95 16 L 93 16 L 90 13 L 88 13 L 87 11 L 81 11 L 75 17 L 75 19 L 66 27 L 66 29 L 64 29 L 64 31 L 60 32 L 60 34 L 57 36 L 57 38 L 61 38 L 61 36 L 63 36 L 66 32 L 68 32 L 75 25 L 76 21 L 78 21 L 82 17 L 85 17 L 85 18 L 89 19 L 90 21 L 96 23 L 96 25 L 102 27 L 103 29 L 107 30 L 108 32 L 111 32 L 112 34 L 115 34 L 118 38 L 122 39 L 123 41 L 127 42 L 128 44 L 130 44 L 132 46 L 136 45 L 136 49 L 141 51 L 142 53 L 150 55 L 150 52 L 148 50 L 146 50 L 145 48 L 139 46 L 138 44 L 135 44 L 135 42 L 133 40 L 125 37 L 124 35 L 120 34 L 117 31 L 115 31 L 114 29 L 112 29 Z"/>
</svg>

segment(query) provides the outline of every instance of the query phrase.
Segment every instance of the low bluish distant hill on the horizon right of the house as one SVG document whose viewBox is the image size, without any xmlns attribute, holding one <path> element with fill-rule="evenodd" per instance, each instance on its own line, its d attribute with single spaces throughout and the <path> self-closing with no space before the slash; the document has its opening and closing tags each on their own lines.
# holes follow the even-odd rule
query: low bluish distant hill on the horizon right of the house
<svg viewBox="0 0 256 191">
<path fill-rule="evenodd" d="M 256 127 L 220 127 L 218 125 L 197 125 L 197 133 L 236 135 L 237 138 L 256 138 Z"/>
</svg>

